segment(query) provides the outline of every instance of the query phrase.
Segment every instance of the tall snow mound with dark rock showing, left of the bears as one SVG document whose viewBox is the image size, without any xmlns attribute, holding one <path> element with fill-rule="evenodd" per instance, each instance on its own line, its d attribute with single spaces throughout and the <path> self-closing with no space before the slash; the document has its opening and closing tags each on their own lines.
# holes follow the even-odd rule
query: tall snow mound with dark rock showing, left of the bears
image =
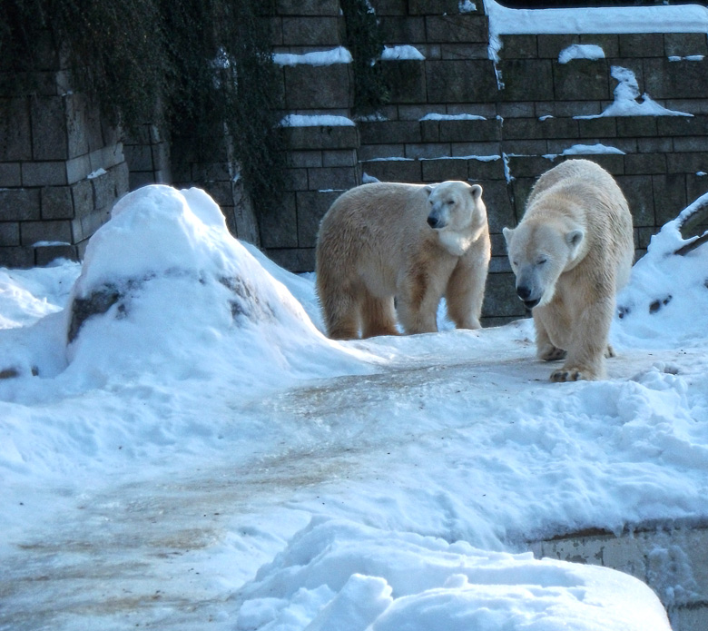
<svg viewBox="0 0 708 631">
<path fill-rule="evenodd" d="M 199 189 L 151 185 L 126 195 L 93 235 L 68 306 L 55 315 L 34 334 L 15 331 L 32 341 L 15 345 L 25 349 L 13 362 L 18 375 L 65 372 L 85 389 L 147 372 L 233 373 L 267 388 L 330 375 L 332 360 L 335 372 L 370 370 L 362 354 L 317 330 Z M 40 347 L 54 351 L 43 357 Z"/>
</svg>

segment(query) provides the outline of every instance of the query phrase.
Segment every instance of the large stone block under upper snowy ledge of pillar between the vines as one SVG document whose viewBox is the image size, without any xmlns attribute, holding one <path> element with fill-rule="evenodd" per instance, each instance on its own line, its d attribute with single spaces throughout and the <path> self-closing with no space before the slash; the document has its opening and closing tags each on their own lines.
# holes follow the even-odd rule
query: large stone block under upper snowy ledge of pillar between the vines
<svg viewBox="0 0 708 631">
<path fill-rule="evenodd" d="M 349 108 L 353 104 L 349 64 L 286 66 L 283 75 L 289 110 Z"/>
</svg>

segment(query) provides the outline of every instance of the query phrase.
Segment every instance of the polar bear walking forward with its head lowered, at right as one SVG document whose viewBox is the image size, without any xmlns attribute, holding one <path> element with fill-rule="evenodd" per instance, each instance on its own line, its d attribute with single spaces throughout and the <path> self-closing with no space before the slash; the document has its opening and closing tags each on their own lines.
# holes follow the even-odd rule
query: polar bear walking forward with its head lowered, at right
<svg viewBox="0 0 708 631">
<path fill-rule="evenodd" d="M 634 260 L 632 215 L 615 179 L 588 160 L 558 164 L 536 182 L 518 227 L 503 232 L 537 356 L 565 358 L 551 380 L 603 379 L 615 294 Z"/>
</svg>

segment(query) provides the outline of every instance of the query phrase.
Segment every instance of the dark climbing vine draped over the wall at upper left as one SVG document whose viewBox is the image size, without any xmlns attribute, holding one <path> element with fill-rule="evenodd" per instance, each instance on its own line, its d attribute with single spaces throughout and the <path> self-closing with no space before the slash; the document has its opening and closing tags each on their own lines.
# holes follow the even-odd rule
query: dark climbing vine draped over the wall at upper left
<svg viewBox="0 0 708 631">
<path fill-rule="evenodd" d="M 34 93 L 34 71 L 69 68 L 128 132 L 156 123 L 221 162 L 226 131 L 262 210 L 282 190 L 274 11 L 274 0 L 3 0 L 0 96 Z"/>
</svg>

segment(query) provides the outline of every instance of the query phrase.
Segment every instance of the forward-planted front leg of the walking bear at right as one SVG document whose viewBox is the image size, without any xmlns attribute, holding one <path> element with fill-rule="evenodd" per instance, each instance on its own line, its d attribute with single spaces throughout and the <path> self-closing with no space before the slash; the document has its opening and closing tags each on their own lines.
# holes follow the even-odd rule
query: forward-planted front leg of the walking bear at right
<svg viewBox="0 0 708 631">
<path fill-rule="evenodd" d="M 612 323 L 614 301 L 595 301 L 571 322 L 573 330 L 563 368 L 551 373 L 551 381 L 605 379 L 605 352 Z"/>
</svg>

